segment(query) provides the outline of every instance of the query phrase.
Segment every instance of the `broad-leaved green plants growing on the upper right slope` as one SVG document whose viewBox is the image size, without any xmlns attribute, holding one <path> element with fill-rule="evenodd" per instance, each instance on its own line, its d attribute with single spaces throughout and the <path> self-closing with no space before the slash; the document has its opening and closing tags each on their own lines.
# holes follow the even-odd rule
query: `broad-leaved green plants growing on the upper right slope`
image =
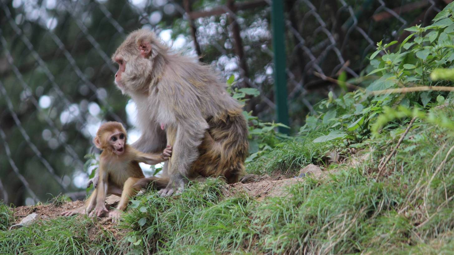
<svg viewBox="0 0 454 255">
<path fill-rule="evenodd" d="M 454 76 L 449 68 L 454 66 L 453 13 L 454 3 L 450 3 L 435 16 L 434 24 L 406 29 L 413 33 L 395 52 L 390 46 L 397 41 L 377 43 L 377 50 L 370 55 L 370 66 L 366 68 L 367 76 L 348 81 L 366 85 L 366 89 L 342 93 L 338 98 L 330 92 L 328 98 L 316 106 L 317 114 L 306 117 L 300 134 L 318 130 L 323 134 L 313 142 L 345 140 L 355 147 L 378 126 L 391 129 L 399 126 L 399 118 L 391 118 L 395 114 L 391 114 L 390 109 L 400 106 L 401 111 L 408 113 L 413 108 L 422 110 L 432 104 L 445 103 L 447 92 L 416 89 L 415 93 L 399 94 L 393 93 L 393 89 L 452 85 L 449 80 L 454 80 Z M 338 83 L 345 86 L 345 75 L 340 75 Z M 395 122 L 385 123 L 391 119 Z"/>
</svg>

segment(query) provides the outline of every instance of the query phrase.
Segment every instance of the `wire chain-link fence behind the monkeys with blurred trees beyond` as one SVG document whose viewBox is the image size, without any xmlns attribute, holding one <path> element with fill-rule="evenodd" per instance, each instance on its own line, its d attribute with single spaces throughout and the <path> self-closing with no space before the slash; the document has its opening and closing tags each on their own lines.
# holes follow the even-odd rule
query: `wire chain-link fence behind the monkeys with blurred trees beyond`
<svg viewBox="0 0 454 255">
<path fill-rule="evenodd" d="M 338 86 L 358 78 L 377 41 L 403 40 L 448 0 L 285 0 L 287 105 L 292 127 Z M 84 155 L 99 124 L 124 123 L 134 104 L 113 84 L 110 55 L 128 32 L 153 29 L 198 55 L 238 88 L 257 88 L 247 110 L 272 121 L 275 66 L 271 0 L 1 0 L 0 198 L 15 205 L 84 192 Z M 284 84 L 285 86 L 285 84 Z"/>
</svg>

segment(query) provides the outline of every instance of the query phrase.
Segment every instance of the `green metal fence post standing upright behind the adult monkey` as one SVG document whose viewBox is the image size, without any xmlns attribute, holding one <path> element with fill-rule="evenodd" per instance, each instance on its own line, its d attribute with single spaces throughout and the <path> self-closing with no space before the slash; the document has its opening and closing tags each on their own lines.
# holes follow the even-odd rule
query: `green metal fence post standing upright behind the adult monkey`
<svg viewBox="0 0 454 255">
<path fill-rule="evenodd" d="M 277 121 L 288 126 L 283 2 L 283 0 L 272 0 L 271 6 L 274 49 L 274 101 L 276 103 Z M 289 130 L 279 127 L 279 132 L 288 133 Z"/>
</svg>

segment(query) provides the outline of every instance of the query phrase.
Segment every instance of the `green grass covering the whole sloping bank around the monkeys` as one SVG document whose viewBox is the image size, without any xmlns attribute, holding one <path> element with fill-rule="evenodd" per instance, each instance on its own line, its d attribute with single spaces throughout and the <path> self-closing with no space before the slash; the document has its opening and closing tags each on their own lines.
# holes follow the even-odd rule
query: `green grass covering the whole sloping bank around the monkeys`
<svg viewBox="0 0 454 255">
<path fill-rule="evenodd" d="M 454 116 L 452 108 L 438 112 Z M 194 183 L 171 198 L 147 192 L 132 201 L 118 226 L 122 235 L 86 217 L 8 231 L 12 213 L 2 206 L 0 254 L 452 254 L 454 133 L 417 121 L 385 176 L 377 176 L 405 128 L 365 140 L 363 162 L 331 165 L 333 174 L 306 177 L 284 197 L 225 196 L 219 180 Z M 289 140 L 252 169 L 291 172 L 345 148 L 338 141 Z"/>
</svg>

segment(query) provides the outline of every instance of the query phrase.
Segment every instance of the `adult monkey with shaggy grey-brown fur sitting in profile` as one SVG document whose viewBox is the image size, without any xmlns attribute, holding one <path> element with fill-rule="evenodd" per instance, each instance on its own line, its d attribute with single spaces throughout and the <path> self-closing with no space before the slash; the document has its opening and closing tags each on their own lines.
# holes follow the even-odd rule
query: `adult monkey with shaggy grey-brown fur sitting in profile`
<svg viewBox="0 0 454 255">
<path fill-rule="evenodd" d="M 183 191 L 188 180 L 222 176 L 234 183 L 245 175 L 247 124 L 241 105 L 212 70 L 193 57 L 172 53 L 156 35 L 128 35 L 112 60 L 115 84 L 137 105 L 142 136 L 133 147 L 160 152 L 173 147 L 161 196 Z M 139 183 L 140 184 L 140 183 Z"/>
</svg>

